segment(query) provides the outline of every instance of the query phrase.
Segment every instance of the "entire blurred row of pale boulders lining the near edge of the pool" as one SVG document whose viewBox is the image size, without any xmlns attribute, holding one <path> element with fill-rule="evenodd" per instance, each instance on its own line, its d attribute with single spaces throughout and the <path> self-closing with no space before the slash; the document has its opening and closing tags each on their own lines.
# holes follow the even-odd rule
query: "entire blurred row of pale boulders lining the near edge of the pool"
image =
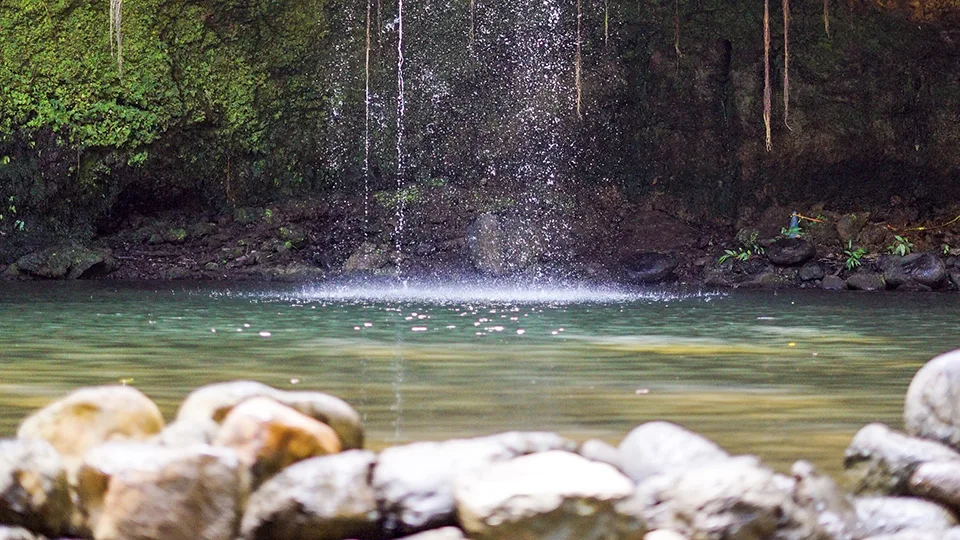
<svg viewBox="0 0 960 540">
<path fill-rule="evenodd" d="M 960 351 L 927 363 L 906 433 L 853 438 L 847 493 L 664 421 L 618 446 L 508 432 L 374 453 L 321 392 L 213 384 L 166 424 L 132 387 L 83 388 L 0 440 L 0 538 L 956 539 L 958 391 Z"/>
</svg>

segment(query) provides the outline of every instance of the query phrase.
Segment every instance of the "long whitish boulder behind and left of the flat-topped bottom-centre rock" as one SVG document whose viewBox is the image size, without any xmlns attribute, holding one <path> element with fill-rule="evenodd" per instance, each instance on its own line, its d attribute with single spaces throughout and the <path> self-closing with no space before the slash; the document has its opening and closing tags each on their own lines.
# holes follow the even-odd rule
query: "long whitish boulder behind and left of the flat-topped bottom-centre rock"
<svg viewBox="0 0 960 540">
<path fill-rule="evenodd" d="M 554 433 L 509 432 L 387 448 L 373 471 L 378 508 L 391 536 L 456 524 L 453 482 L 490 463 L 548 450 L 576 450 Z"/>
</svg>

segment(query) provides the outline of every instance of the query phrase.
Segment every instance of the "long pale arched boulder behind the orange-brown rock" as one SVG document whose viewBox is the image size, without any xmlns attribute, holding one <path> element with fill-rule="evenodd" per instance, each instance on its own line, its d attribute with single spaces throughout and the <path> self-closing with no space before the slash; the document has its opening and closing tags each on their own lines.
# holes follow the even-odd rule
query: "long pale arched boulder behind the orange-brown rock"
<svg viewBox="0 0 960 540">
<path fill-rule="evenodd" d="M 287 392 L 255 381 L 233 381 L 198 388 L 177 412 L 177 421 L 210 418 L 223 422 L 237 405 L 255 397 L 268 397 L 315 418 L 337 433 L 344 450 L 363 448 L 360 415 L 347 402 L 322 392 Z"/>
</svg>

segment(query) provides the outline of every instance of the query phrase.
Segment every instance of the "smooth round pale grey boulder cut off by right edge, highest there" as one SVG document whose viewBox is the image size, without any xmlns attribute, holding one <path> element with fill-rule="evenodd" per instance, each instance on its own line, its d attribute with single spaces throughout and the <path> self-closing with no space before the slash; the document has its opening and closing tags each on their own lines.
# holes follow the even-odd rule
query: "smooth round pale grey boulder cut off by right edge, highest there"
<svg viewBox="0 0 960 540">
<path fill-rule="evenodd" d="M 960 350 L 927 362 L 910 381 L 903 405 L 907 433 L 960 448 Z"/>
</svg>

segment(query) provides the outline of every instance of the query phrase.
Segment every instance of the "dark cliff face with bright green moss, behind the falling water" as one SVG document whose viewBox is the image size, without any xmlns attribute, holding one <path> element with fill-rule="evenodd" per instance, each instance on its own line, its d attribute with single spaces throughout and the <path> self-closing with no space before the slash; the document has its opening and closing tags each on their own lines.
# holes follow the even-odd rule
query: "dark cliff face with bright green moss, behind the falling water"
<svg viewBox="0 0 960 540">
<path fill-rule="evenodd" d="M 579 33 L 573 3 L 408 2 L 398 139 L 396 2 L 371 0 L 368 72 L 364 2 L 129 2 L 121 73 L 108 6 L 7 0 L 0 243 L 12 253 L 135 210 L 375 193 L 398 178 L 520 201 L 501 192 L 614 184 L 713 214 L 949 204 L 957 2 L 831 3 L 829 34 L 822 4 L 793 6 L 789 129 L 773 4 L 768 152 L 759 1 L 585 0 Z"/>
</svg>

